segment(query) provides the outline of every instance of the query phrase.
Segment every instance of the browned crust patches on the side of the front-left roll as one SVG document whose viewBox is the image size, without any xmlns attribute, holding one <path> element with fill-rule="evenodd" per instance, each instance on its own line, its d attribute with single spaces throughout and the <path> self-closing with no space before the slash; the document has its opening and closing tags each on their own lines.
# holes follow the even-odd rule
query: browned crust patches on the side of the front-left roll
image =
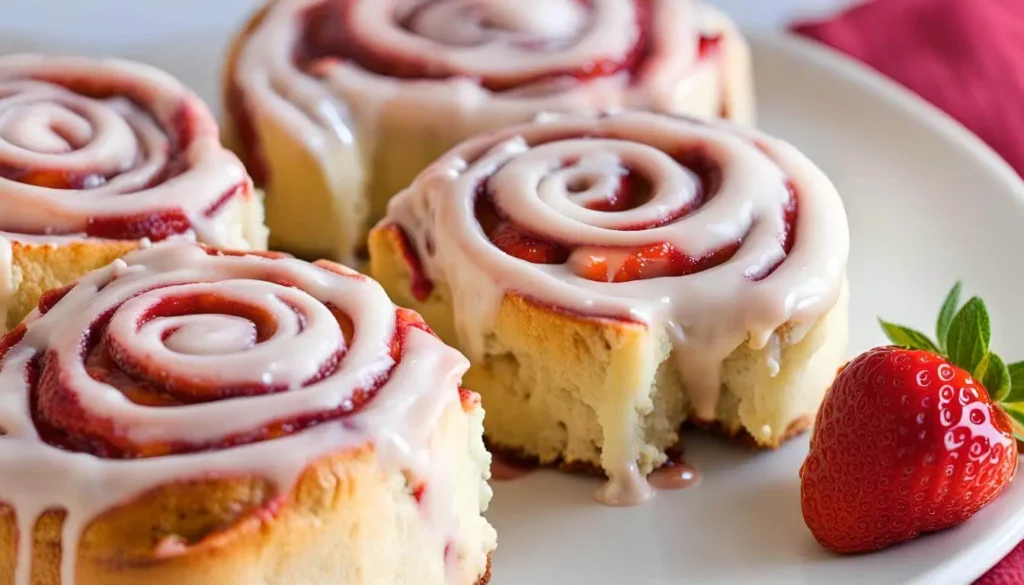
<svg viewBox="0 0 1024 585">
<path fill-rule="evenodd" d="M 360 465 L 371 457 L 371 451 L 361 448 L 310 466 L 285 502 L 274 497 L 265 480 L 256 477 L 183 480 L 161 486 L 103 512 L 89 524 L 79 546 L 78 583 L 132 583 L 132 575 L 174 575 L 189 567 L 210 569 L 207 566 L 218 559 L 241 561 L 244 555 L 238 551 L 252 549 L 257 544 L 264 523 L 324 506 L 332 497 L 326 490 L 330 486 L 326 479 L 335 469 L 356 470 L 334 476 L 331 486 L 334 490 L 352 490 Z M 311 498 L 310 494 L 315 492 L 319 492 L 316 494 L 319 497 Z M 33 585 L 59 585 L 62 521 L 62 512 L 49 511 L 36 525 L 33 567 L 35 572 L 42 573 L 42 578 L 34 579 Z M 5 579 L 13 573 L 14 534 L 13 513 L 4 508 L 0 510 L 2 585 L 7 585 Z M 228 543 L 232 544 L 230 549 L 225 546 Z"/>
</svg>

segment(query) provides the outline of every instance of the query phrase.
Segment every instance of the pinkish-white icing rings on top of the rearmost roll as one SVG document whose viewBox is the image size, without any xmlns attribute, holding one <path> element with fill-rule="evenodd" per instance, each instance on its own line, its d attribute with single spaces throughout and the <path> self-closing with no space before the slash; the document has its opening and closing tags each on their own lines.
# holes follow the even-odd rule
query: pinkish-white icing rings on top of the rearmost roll
<svg viewBox="0 0 1024 585">
<path fill-rule="evenodd" d="M 652 94 L 674 95 L 681 78 L 687 72 L 696 73 L 693 70 L 701 66 L 697 62 L 698 31 L 724 33 L 718 18 L 703 7 L 654 0 L 653 54 L 648 57 L 652 62 L 643 68 L 642 79 L 596 76 L 551 93 L 531 91 L 527 86 L 539 83 L 551 89 L 551 80 L 537 78 L 572 74 L 595 62 L 627 58 L 640 34 L 635 1 L 593 0 L 589 13 L 581 13 L 584 9 L 577 0 L 353 1 L 350 30 L 362 46 L 396 66 L 428 62 L 429 71 L 446 78 L 391 78 L 345 59 L 324 59 L 312 72 L 317 77 L 312 77 L 296 69 L 293 54 L 304 32 L 303 14 L 323 1 L 274 2 L 245 42 L 234 76 L 246 91 L 246 105 L 255 108 L 257 116 L 285 118 L 286 125 L 310 147 L 323 147 L 331 134 L 351 139 L 349 114 L 355 114 L 357 129 L 371 126 L 374 122 L 368 114 L 379 111 L 382 99 L 418 102 L 417 115 L 425 118 L 431 118 L 425 108 L 459 101 L 461 118 L 478 118 L 470 124 L 471 132 L 526 121 L 546 111 L 614 107 L 676 110 Z M 418 15 L 409 29 L 403 28 L 401 15 L 414 10 Z M 714 26 L 706 22 L 714 22 Z M 481 29 L 481 23 L 489 26 Z M 535 81 L 516 84 L 508 91 L 489 91 L 472 81 L 501 76 Z M 656 79 L 665 87 L 651 91 L 647 79 Z M 531 93 L 535 95 L 528 97 Z M 701 106 L 714 107 L 694 109 L 717 113 L 717 99 Z M 495 117 L 497 121 L 484 120 Z M 360 119 L 367 119 L 366 123 L 360 124 Z M 462 125 L 467 121 L 449 122 Z M 324 130 L 328 130 L 327 135 Z"/>
</svg>

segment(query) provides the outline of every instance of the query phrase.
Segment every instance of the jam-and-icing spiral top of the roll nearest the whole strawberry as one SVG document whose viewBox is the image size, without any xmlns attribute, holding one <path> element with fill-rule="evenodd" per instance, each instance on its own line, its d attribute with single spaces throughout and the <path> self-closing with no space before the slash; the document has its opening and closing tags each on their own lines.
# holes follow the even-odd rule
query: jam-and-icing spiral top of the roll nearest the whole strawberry
<svg viewBox="0 0 1024 585">
<path fill-rule="evenodd" d="M 774 176 L 757 186 L 765 201 L 756 206 L 761 215 L 754 215 L 750 202 L 735 194 L 717 201 L 724 183 L 731 191 L 737 182 L 726 176 L 730 157 L 720 141 L 667 135 L 645 141 L 614 117 L 606 126 L 476 141 L 466 164 L 486 171 L 474 176 L 473 220 L 494 247 L 596 283 L 710 270 L 733 258 L 755 229 L 759 239 L 772 237 L 744 279 L 768 277 L 792 251 L 800 196 L 783 172 L 773 169 Z M 757 140 L 725 136 L 771 163 Z M 729 208 L 738 217 L 728 217 Z M 714 216 L 718 220 L 709 224 Z M 414 271 L 413 293 L 424 300 L 432 284 L 409 234 L 401 242 Z M 426 253 L 433 255 L 433 247 L 428 236 Z"/>
</svg>

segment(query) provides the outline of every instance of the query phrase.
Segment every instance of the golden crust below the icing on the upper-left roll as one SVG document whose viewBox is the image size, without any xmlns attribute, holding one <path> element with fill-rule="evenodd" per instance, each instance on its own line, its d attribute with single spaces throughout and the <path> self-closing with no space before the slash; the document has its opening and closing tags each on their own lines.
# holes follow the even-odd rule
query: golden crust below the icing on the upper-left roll
<svg viewBox="0 0 1024 585">
<path fill-rule="evenodd" d="M 0 323 L 6 327 L 0 331 L 17 325 L 44 292 L 73 283 L 138 247 L 137 241 L 119 240 L 75 240 L 59 245 L 11 242 L 14 295 L 4 323 Z"/>
</svg>

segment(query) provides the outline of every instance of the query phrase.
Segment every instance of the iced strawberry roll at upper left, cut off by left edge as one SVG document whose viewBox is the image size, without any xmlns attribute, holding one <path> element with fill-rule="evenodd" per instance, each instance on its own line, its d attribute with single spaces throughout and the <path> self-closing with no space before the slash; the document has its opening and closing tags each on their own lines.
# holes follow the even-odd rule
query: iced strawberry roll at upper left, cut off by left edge
<svg viewBox="0 0 1024 585">
<path fill-rule="evenodd" d="M 260 198 L 177 80 L 120 60 L 0 57 L 0 332 L 137 248 L 265 249 Z"/>
</svg>

